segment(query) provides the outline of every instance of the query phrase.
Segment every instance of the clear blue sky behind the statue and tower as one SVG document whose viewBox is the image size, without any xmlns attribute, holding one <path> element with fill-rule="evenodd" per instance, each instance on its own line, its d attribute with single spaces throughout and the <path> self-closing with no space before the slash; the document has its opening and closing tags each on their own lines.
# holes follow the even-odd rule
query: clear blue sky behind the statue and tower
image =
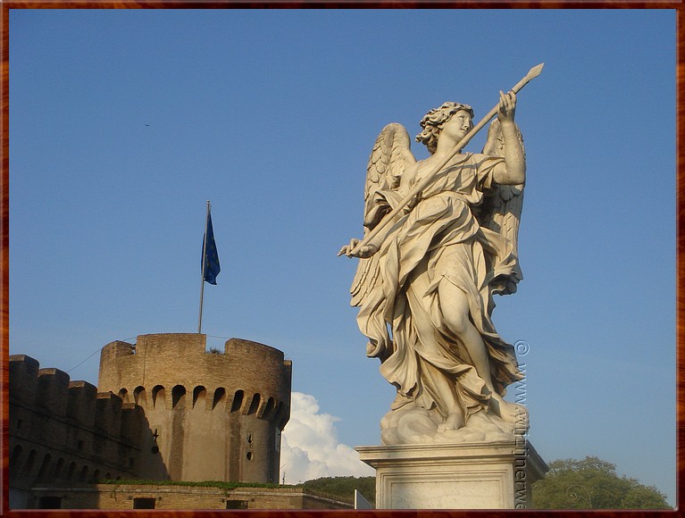
<svg viewBox="0 0 685 518">
<path fill-rule="evenodd" d="M 374 139 L 446 100 L 478 120 L 538 63 L 524 280 L 493 315 L 530 345 L 530 440 L 674 503 L 672 10 L 12 10 L 10 352 L 96 383 L 108 342 L 195 332 L 209 199 L 209 345 L 280 348 L 341 444 L 379 444 L 393 389 L 336 257 Z"/>
</svg>

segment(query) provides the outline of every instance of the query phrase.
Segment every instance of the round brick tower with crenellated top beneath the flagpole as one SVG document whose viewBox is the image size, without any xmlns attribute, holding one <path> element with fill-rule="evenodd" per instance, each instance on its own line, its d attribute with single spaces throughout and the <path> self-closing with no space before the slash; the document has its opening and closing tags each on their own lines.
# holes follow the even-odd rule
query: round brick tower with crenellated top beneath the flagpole
<svg viewBox="0 0 685 518">
<path fill-rule="evenodd" d="M 292 363 L 238 338 L 205 348 L 205 335 L 171 333 L 103 347 L 98 389 L 142 406 L 149 425 L 139 477 L 277 483 Z"/>
</svg>

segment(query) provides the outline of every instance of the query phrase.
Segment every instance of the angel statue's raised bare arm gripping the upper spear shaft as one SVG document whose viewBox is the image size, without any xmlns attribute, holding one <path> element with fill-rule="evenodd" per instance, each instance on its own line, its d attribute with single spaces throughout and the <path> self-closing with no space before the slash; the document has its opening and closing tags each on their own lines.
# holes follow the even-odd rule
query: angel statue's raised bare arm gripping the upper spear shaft
<svg viewBox="0 0 685 518">
<path fill-rule="evenodd" d="M 505 144 L 505 162 L 493 171 L 493 179 L 504 185 L 519 185 L 526 180 L 525 155 L 514 124 L 515 111 L 516 94 L 500 92 L 497 119 Z"/>
</svg>

